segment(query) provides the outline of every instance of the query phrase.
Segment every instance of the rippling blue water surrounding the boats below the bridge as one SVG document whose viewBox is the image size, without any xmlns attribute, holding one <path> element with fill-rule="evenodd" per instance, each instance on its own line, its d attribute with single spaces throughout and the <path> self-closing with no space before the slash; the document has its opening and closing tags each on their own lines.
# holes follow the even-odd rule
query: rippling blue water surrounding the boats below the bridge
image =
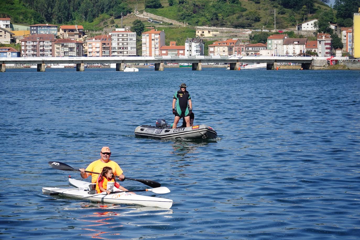
<svg viewBox="0 0 360 240">
<path fill-rule="evenodd" d="M 6 69 L 0 74 L 0 239 L 359 239 L 360 71 Z M 210 141 L 140 139 L 173 121 L 185 82 Z M 102 146 L 171 209 L 42 194 Z M 135 190 L 145 185 L 125 181 Z"/>
</svg>

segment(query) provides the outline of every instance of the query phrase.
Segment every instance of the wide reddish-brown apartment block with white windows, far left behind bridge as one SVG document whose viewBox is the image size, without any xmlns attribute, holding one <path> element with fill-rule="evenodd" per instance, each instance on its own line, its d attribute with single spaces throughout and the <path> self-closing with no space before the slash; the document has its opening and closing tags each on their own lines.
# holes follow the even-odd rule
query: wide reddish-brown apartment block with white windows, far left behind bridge
<svg viewBox="0 0 360 240">
<path fill-rule="evenodd" d="M 21 42 L 22 57 L 55 56 L 55 36 L 53 34 L 33 34 Z"/>
</svg>

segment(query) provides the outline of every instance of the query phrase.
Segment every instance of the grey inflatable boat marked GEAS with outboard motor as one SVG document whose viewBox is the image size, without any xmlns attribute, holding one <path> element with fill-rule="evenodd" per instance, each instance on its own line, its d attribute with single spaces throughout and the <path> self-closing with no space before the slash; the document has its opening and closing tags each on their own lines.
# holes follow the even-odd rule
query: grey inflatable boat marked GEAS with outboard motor
<svg viewBox="0 0 360 240">
<path fill-rule="evenodd" d="M 212 127 L 205 124 L 171 128 L 164 119 L 158 118 L 156 125 L 141 125 L 135 128 L 135 136 L 154 139 L 212 139 L 217 136 Z"/>
</svg>

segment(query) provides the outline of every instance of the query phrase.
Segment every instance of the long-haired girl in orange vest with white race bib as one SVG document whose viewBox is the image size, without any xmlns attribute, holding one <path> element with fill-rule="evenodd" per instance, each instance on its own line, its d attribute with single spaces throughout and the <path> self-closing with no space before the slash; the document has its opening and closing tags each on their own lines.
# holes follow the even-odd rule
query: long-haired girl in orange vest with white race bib
<svg viewBox="0 0 360 240">
<path fill-rule="evenodd" d="M 122 191 L 128 191 L 125 187 L 120 186 L 115 180 L 111 167 L 104 167 L 103 171 L 99 174 L 98 180 L 96 181 L 96 192 L 106 192 L 110 194 L 113 187 L 117 187 Z"/>
</svg>

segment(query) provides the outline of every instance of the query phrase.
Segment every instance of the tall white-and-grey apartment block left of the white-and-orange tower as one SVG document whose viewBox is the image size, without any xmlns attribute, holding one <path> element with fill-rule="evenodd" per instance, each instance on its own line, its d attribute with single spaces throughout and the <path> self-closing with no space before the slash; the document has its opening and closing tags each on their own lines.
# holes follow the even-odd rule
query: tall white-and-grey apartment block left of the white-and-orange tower
<svg viewBox="0 0 360 240">
<path fill-rule="evenodd" d="M 136 56 L 136 32 L 116 28 L 111 35 L 111 56 Z"/>
</svg>

